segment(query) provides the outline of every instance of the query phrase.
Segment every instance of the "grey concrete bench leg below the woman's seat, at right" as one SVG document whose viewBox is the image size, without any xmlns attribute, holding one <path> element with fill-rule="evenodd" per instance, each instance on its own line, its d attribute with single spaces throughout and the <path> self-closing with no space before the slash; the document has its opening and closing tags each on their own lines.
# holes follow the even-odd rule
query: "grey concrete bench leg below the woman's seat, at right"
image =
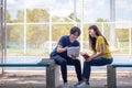
<svg viewBox="0 0 132 88">
<path fill-rule="evenodd" d="M 112 65 L 107 66 L 107 84 L 108 88 L 117 88 L 116 68 Z"/>
</svg>

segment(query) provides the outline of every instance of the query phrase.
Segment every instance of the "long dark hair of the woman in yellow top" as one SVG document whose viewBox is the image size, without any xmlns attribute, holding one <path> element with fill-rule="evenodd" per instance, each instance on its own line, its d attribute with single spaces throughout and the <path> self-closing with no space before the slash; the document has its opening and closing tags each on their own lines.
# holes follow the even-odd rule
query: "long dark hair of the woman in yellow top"
<svg viewBox="0 0 132 88">
<path fill-rule="evenodd" d="M 91 26 L 89 26 L 89 29 L 88 30 L 94 30 L 95 31 L 95 33 L 96 33 L 96 35 L 97 36 L 102 36 L 103 38 L 105 38 L 105 43 L 107 44 L 107 45 L 109 45 L 108 44 L 108 42 L 107 42 L 107 40 L 106 40 L 106 37 L 101 34 L 101 32 L 99 31 L 99 29 L 97 28 L 97 25 L 91 25 Z M 92 37 L 90 34 L 89 34 L 89 46 L 90 46 L 90 48 L 94 51 L 94 52 L 96 52 L 96 37 Z"/>
</svg>

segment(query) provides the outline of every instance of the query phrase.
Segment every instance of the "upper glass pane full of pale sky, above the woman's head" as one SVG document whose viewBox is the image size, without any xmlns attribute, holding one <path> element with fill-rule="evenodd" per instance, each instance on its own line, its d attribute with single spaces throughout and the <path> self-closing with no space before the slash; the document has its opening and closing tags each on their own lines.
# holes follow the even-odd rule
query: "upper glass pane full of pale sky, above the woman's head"
<svg viewBox="0 0 132 88">
<path fill-rule="evenodd" d="M 84 21 L 110 21 L 110 0 L 84 0 Z"/>
</svg>

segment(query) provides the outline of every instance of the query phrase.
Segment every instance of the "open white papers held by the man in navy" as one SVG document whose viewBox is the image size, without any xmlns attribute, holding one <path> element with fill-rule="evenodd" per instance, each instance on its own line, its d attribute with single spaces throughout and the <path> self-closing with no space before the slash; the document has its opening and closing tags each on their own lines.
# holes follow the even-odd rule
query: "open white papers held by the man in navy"
<svg viewBox="0 0 132 88">
<path fill-rule="evenodd" d="M 68 47 L 67 48 L 67 55 L 72 57 L 72 55 L 79 57 L 79 46 Z"/>
</svg>

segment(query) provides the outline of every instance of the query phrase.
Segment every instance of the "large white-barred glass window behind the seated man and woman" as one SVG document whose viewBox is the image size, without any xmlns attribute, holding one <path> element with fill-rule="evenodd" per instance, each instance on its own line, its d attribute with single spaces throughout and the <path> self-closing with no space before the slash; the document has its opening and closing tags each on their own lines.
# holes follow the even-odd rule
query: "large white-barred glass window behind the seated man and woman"
<svg viewBox="0 0 132 88">
<path fill-rule="evenodd" d="M 131 0 L 116 0 L 116 48 L 121 41 L 120 34 L 124 29 L 127 33 L 131 29 Z M 97 24 L 110 43 L 110 0 L 7 0 L 8 54 L 14 47 L 15 55 L 34 55 L 34 50 L 37 50 L 37 55 L 48 56 L 59 37 L 69 34 L 74 25 L 81 29 L 82 51 L 89 52 L 88 28 L 91 24 Z M 120 24 L 118 21 L 130 23 Z M 130 46 L 130 36 L 125 36 Z"/>
</svg>

